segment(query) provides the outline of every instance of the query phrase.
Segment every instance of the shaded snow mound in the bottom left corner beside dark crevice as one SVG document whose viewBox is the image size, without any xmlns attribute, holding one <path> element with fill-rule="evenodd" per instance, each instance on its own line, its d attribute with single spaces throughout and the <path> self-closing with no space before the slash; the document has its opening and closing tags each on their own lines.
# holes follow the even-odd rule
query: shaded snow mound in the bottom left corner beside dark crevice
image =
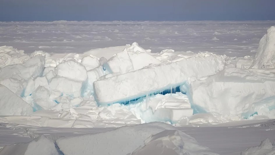
<svg viewBox="0 0 275 155">
<path fill-rule="evenodd" d="M 54 141 L 45 136 L 35 138 L 28 143 L 8 145 L 0 150 L 0 155 L 59 155 Z"/>
</svg>

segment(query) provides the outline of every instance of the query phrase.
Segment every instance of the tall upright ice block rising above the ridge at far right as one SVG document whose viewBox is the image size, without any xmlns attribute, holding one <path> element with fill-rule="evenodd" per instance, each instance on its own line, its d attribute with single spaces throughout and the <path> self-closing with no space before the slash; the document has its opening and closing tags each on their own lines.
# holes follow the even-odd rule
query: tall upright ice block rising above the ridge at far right
<svg viewBox="0 0 275 155">
<path fill-rule="evenodd" d="M 267 30 L 260 40 L 258 51 L 251 65 L 252 68 L 275 67 L 275 27 Z"/>
</svg>

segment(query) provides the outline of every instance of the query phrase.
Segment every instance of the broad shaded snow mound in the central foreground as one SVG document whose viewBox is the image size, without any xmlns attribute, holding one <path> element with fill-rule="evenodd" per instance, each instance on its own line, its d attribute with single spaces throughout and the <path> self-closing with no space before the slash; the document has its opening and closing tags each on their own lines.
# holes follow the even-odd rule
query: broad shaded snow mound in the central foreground
<svg viewBox="0 0 275 155">
<path fill-rule="evenodd" d="M 147 140 L 146 140 L 147 139 Z M 104 133 L 82 135 L 58 139 L 59 149 L 66 155 L 75 154 L 131 154 L 138 147 L 156 144 L 154 148 L 176 153 L 177 155 L 217 155 L 207 147 L 198 145 L 196 140 L 181 131 L 176 131 L 165 123 L 146 123 L 136 126 L 124 126 Z M 163 147 L 161 147 L 163 146 Z M 153 146 L 152 146 L 153 147 Z M 172 151 L 172 148 L 177 150 Z M 150 154 L 152 148 L 145 146 L 137 149 L 133 154 Z M 154 152 L 158 152 L 154 150 Z"/>
</svg>

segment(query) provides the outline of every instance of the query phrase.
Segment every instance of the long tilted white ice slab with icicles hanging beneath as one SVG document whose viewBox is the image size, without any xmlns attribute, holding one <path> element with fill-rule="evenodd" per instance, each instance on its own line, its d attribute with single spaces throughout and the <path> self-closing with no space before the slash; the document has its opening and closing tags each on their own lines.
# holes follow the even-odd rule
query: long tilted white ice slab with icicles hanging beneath
<svg viewBox="0 0 275 155">
<path fill-rule="evenodd" d="M 220 55 L 200 53 L 191 58 L 167 64 L 151 65 L 134 72 L 94 82 L 99 105 L 124 102 L 146 94 L 179 86 L 221 71 L 224 60 Z"/>
</svg>

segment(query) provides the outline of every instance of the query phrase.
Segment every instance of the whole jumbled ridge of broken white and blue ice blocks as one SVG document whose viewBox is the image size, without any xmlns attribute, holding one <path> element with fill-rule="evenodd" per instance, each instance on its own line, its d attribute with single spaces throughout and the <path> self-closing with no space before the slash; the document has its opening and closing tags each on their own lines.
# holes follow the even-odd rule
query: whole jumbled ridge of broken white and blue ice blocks
<svg viewBox="0 0 275 155">
<path fill-rule="evenodd" d="M 151 53 L 137 43 L 29 55 L 1 46 L 0 115 L 11 116 L 0 119 L 33 126 L 120 127 L 275 118 L 274 29 L 260 40 L 255 57 L 244 58 L 171 49 Z"/>
</svg>

